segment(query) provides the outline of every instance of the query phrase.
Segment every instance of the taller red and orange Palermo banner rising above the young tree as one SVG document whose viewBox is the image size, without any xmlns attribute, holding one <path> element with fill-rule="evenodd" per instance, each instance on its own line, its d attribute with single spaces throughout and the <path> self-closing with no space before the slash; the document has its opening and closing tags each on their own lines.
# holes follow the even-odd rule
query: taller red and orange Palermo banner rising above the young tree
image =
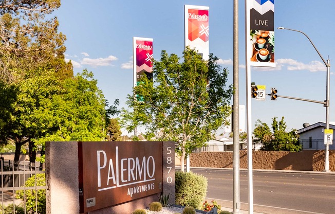
<svg viewBox="0 0 335 214">
<path fill-rule="evenodd" d="M 184 6 L 185 46 L 199 51 L 202 59 L 209 59 L 209 7 Z"/>
</svg>

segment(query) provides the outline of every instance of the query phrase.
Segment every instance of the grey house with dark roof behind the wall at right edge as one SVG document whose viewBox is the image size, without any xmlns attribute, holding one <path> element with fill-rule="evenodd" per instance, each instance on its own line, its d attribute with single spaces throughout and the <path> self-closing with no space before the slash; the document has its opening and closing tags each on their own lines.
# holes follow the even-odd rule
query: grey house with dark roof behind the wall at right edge
<svg viewBox="0 0 335 214">
<path fill-rule="evenodd" d="M 296 131 L 299 134 L 300 144 L 303 149 L 325 149 L 324 145 L 324 130 L 326 128 L 325 122 L 317 122 L 314 124 L 304 123 L 304 128 Z M 329 129 L 335 130 L 335 122 L 329 122 Z M 335 131 L 333 131 L 335 134 Z M 333 137 L 335 139 L 335 137 Z M 335 141 L 329 145 L 329 149 L 335 149 Z"/>
</svg>

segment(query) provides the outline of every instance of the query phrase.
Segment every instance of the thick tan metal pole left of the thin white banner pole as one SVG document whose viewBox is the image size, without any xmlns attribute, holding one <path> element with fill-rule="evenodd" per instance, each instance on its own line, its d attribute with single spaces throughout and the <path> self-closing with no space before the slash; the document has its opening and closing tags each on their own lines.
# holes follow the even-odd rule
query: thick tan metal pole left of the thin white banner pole
<svg viewBox="0 0 335 214">
<path fill-rule="evenodd" d="M 234 0 L 233 32 L 233 212 L 240 213 L 239 184 L 239 100 L 238 100 L 238 0 Z"/>
</svg>

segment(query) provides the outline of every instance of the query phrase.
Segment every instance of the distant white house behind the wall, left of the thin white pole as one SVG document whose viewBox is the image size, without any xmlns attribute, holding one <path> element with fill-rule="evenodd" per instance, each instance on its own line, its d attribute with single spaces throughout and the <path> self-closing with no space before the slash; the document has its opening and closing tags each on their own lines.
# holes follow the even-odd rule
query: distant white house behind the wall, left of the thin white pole
<svg viewBox="0 0 335 214">
<path fill-rule="evenodd" d="M 232 152 L 233 139 L 225 136 L 217 136 L 215 139 L 209 140 L 207 146 L 196 148 L 193 152 Z M 245 141 L 239 142 L 239 149 L 246 149 L 247 144 Z"/>
</svg>

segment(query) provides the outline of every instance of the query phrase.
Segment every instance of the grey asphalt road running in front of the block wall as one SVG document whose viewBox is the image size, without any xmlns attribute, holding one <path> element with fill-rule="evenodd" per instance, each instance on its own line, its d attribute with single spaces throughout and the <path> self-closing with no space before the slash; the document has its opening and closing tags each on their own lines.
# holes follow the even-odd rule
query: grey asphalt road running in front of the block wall
<svg viewBox="0 0 335 214">
<path fill-rule="evenodd" d="M 207 198 L 232 208 L 233 171 L 191 169 L 208 179 Z M 241 210 L 248 210 L 247 171 L 240 171 Z M 253 172 L 254 212 L 335 213 L 335 174 Z"/>
</svg>

